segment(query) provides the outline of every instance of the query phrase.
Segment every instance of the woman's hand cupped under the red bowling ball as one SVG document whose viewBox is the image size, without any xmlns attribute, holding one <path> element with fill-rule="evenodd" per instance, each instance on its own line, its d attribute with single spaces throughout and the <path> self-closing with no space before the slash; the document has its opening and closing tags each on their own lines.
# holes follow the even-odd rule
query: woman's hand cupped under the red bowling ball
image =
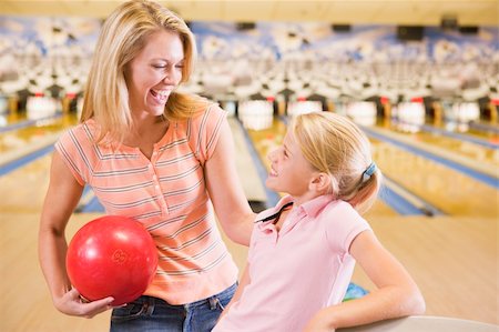
<svg viewBox="0 0 499 332">
<path fill-rule="evenodd" d="M 62 298 L 54 300 L 55 308 L 62 313 L 91 319 L 94 315 L 112 309 L 113 298 L 105 298 L 98 301 L 86 302 L 80 296 L 77 289 L 71 289 Z"/>
</svg>

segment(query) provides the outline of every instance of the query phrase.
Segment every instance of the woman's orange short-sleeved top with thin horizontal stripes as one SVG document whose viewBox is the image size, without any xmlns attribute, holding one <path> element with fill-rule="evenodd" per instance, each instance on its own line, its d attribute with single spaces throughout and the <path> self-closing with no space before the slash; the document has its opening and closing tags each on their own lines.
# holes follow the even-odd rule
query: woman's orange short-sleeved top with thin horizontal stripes
<svg viewBox="0 0 499 332">
<path fill-rule="evenodd" d="M 237 280 L 203 173 L 223 121 L 225 112 L 217 105 L 196 118 L 172 121 L 151 160 L 138 148 L 95 144 L 93 120 L 70 129 L 55 143 L 77 181 L 92 187 L 108 214 L 134 218 L 150 231 L 160 262 L 145 294 L 171 304 L 208 298 Z"/>
</svg>

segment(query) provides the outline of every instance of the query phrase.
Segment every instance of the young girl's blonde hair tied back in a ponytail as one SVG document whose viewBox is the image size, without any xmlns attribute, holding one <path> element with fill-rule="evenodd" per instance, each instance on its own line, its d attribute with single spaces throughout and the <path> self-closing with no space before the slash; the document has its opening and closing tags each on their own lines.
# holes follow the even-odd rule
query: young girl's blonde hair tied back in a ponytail
<svg viewBox="0 0 499 332">
<path fill-rule="evenodd" d="M 330 112 L 297 115 L 291 130 L 305 159 L 329 175 L 329 193 L 366 212 L 376 200 L 383 175 L 376 170 L 364 180 L 373 162 L 364 132 L 347 118 Z"/>
</svg>

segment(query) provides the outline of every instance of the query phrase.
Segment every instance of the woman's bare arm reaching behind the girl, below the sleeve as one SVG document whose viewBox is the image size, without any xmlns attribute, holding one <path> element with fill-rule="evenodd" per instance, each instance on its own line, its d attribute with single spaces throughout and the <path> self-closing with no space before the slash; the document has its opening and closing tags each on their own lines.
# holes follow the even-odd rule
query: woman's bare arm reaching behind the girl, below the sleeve
<svg viewBox="0 0 499 332">
<path fill-rule="evenodd" d="M 223 121 L 215 151 L 204 167 L 206 187 L 218 221 L 227 237 L 248 245 L 253 213 L 241 185 L 235 167 L 234 142 L 227 121 Z"/>
</svg>

